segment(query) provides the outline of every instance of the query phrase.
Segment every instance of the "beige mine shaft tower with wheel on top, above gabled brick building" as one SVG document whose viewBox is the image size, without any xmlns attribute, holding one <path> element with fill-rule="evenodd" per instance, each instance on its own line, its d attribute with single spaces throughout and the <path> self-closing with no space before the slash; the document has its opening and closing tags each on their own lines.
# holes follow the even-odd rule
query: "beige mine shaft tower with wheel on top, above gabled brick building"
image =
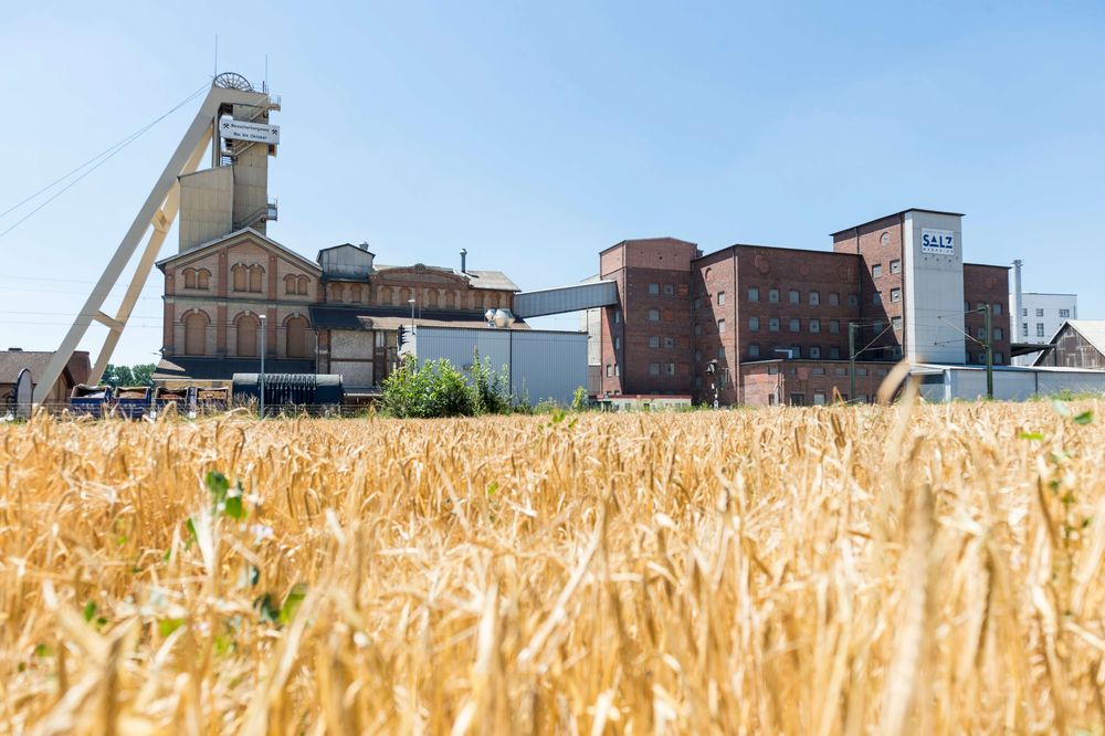
<svg viewBox="0 0 1105 736">
<path fill-rule="evenodd" d="M 243 228 L 265 234 L 276 219 L 269 157 L 276 155 L 280 126 L 270 114 L 280 99 L 238 74 L 221 74 L 217 83 L 241 91 L 244 99 L 221 105 L 211 120 L 211 168 L 179 178 L 181 253 Z"/>
</svg>

